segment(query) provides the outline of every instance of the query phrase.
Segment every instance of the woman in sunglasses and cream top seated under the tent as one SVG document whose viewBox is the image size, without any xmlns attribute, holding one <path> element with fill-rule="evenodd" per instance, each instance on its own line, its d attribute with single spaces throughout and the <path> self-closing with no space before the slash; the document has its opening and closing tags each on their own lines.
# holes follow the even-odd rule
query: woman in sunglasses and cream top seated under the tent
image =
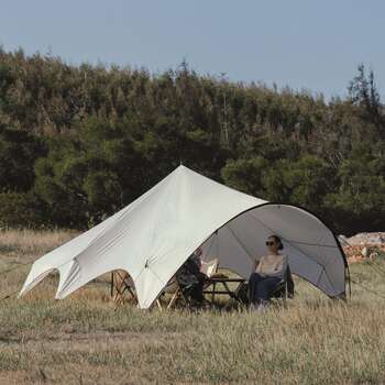
<svg viewBox="0 0 385 385">
<path fill-rule="evenodd" d="M 287 256 L 279 254 L 284 245 L 278 235 L 271 235 L 266 241 L 267 255 L 255 262 L 255 272 L 249 278 L 249 299 L 252 310 L 263 310 L 287 270 Z"/>
</svg>

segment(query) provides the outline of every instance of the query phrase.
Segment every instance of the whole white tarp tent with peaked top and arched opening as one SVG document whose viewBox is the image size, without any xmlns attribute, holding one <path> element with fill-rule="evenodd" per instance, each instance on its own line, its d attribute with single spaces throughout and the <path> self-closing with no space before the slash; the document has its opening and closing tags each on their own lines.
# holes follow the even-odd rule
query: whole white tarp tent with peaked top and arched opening
<svg viewBox="0 0 385 385">
<path fill-rule="evenodd" d="M 179 166 L 131 205 L 37 260 L 20 295 L 57 270 L 56 298 L 124 270 L 139 306 L 148 308 L 188 256 L 202 246 L 248 278 L 267 235 L 284 243 L 293 273 L 328 296 L 345 293 L 345 256 L 322 221 L 294 206 L 270 204 Z"/>
</svg>

